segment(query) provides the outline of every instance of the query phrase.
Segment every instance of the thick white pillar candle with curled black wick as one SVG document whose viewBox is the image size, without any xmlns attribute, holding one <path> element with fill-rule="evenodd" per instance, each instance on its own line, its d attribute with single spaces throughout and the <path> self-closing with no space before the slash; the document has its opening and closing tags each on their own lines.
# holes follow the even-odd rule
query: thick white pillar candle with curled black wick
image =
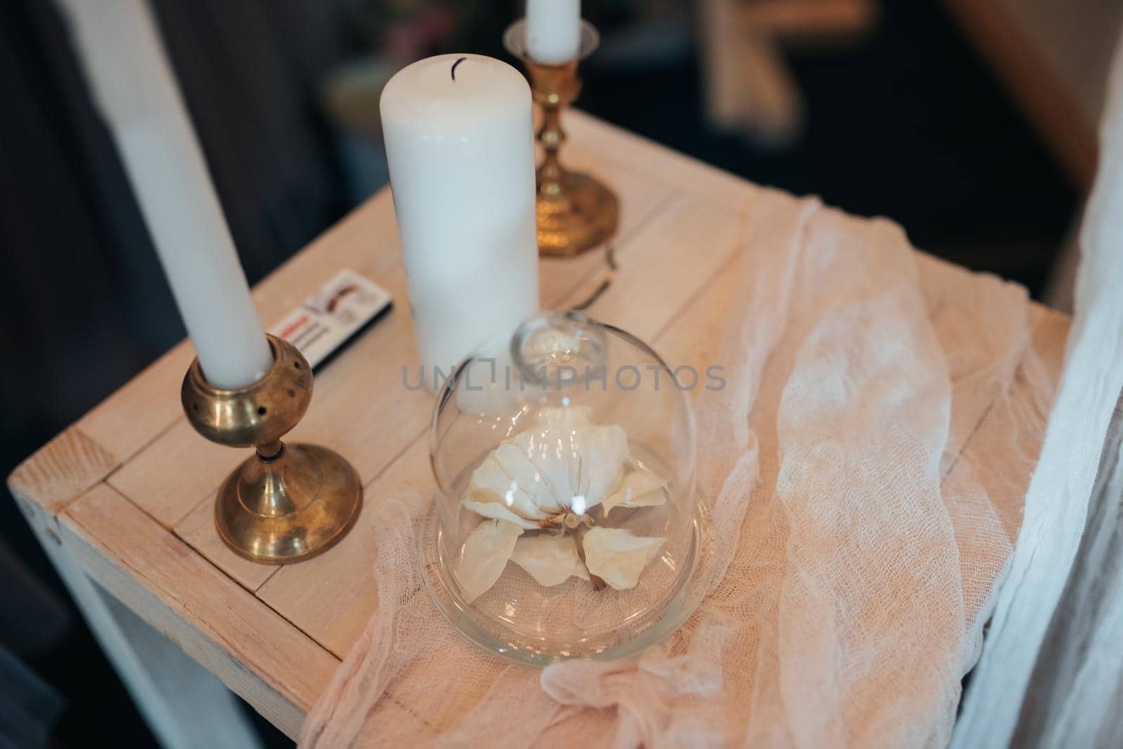
<svg viewBox="0 0 1123 749">
<path fill-rule="evenodd" d="M 538 311 L 530 86 L 440 55 L 399 71 L 381 110 L 418 349 L 447 371 Z"/>
</svg>

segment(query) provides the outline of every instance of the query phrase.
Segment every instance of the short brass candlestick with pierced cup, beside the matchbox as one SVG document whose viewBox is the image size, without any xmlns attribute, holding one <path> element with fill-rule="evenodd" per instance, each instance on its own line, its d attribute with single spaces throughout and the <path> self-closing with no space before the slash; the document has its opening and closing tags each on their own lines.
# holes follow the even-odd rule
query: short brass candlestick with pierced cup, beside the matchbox
<svg viewBox="0 0 1123 749">
<path fill-rule="evenodd" d="M 334 546 L 358 517 L 363 484 L 350 463 L 319 445 L 285 445 L 312 400 L 312 368 L 287 341 L 268 336 L 273 367 L 253 385 L 216 388 L 197 359 L 183 378 L 188 420 L 211 442 L 256 447 L 222 483 L 214 527 L 236 554 L 285 564 Z"/>
</svg>

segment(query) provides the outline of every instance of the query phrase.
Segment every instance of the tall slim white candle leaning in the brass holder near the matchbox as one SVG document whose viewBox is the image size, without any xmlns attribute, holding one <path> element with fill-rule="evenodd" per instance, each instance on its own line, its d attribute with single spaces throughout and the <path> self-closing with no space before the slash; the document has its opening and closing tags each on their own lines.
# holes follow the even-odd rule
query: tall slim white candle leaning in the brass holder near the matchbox
<svg viewBox="0 0 1123 749">
<path fill-rule="evenodd" d="M 144 0 L 62 0 L 207 380 L 239 388 L 273 353 Z"/>
</svg>

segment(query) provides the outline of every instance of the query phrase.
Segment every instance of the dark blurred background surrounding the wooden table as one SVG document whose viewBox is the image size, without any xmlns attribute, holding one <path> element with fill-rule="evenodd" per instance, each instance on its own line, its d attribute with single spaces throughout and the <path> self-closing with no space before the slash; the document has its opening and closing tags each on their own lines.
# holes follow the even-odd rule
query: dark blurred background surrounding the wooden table
<svg viewBox="0 0 1123 749">
<path fill-rule="evenodd" d="M 1063 75 L 1042 94 L 1032 59 L 1011 67 L 1024 55 L 1003 47 L 1013 31 L 995 36 L 989 11 L 975 12 L 1010 3 L 740 0 L 759 15 L 733 38 L 722 13 L 736 1 L 586 0 L 603 44 L 579 107 L 748 179 L 891 216 L 917 247 L 1038 297 L 1051 288 L 1092 176 L 1098 102 L 1066 93 Z M 377 100 L 390 75 L 440 52 L 508 58 L 501 35 L 522 11 L 519 0 L 153 7 L 250 283 L 384 185 Z M 1104 26 L 1114 36 L 1116 18 Z M 1110 47 L 1083 54 L 1106 70 Z M 1078 77 L 1098 91 L 1104 71 Z M 0 3 L 0 101 L 7 475 L 184 331 L 52 2 Z M 7 500 L 0 595 L 0 656 L 49 697 L 37 741 L 77 747 L 95 730 L 111 746 L 152 743 Z"/>
</svg>

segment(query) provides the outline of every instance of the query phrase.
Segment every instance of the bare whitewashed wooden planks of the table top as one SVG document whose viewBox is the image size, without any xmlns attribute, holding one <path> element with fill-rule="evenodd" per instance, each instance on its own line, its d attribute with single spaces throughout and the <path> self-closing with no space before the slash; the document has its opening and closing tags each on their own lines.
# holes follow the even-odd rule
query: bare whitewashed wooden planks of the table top
<svg viewBox="0 0 1123 749">
<path fill-rule="evenodd" d="M 622 204 L 613 242 L 620 270 L 590 314 L 650 342 L 675 366 L 703 369 L 719 344 L 715 321 L 732 300 L 743 209 L 757 188 L 579 112 L 569 113 L 566 126 L 566 161 L 611 184 Z M 952 286 L 968 274 L 917 258 L 928 287 Z M 390 191 L 274 271 L 254 289 L 254 300 L 264 321 L 277 320 L 341 268 L 386 287 L 395 305 L 317 373 L 311 408 L 290 435 L 338 451 L 362 477 L 363 514 L 336 548 L 274 567 L 221 544 L 214 493 L 249 451 L 211 444 L 184 418 L 188 342 L 9 479 L 40 537 L 67 547 L 91 579 L 291 737 L 377 607 L 373 509 L 393 493 L 432 490 L 424 440 L 432 396 L 402 385 L 402 366 L 416 372 L 417 353 Z M 586 298 L 604 270 L 603 248 L 544 259 L 544 307 Z M 1033 305 L 1030 322 L 1056 380 L 1068 317 Z M 986 414 L 978 422 L 985 424 Z M 976 429 L 965 452 L 986 450 L 986 433 Z M 1028 470 L 1020 465 L 1012 470 Z M 380 709 L 401 711 L 419 736 L 431 731 L 400 705 Z"/>
</svg>

